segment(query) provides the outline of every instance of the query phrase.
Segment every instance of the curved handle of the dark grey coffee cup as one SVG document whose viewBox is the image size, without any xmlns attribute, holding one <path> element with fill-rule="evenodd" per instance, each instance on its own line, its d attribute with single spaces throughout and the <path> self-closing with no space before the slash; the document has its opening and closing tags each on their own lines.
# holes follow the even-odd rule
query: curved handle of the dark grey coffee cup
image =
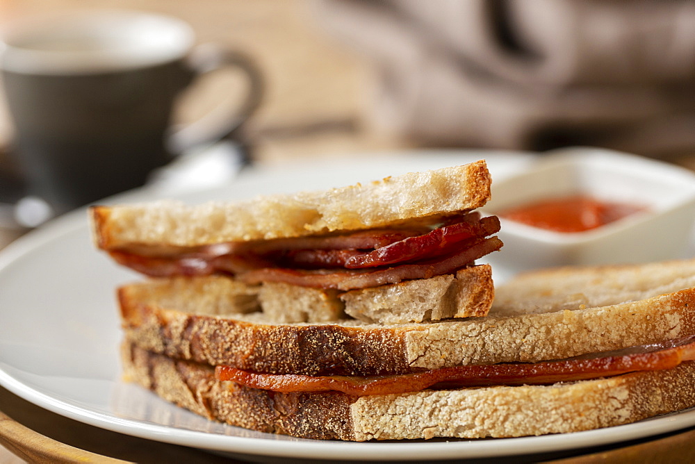
<svg viewBox="0 0 695 464">
<path fill-rule="evenodd" d="M 215 108 L 197 121 L 174 129 L 167 138 L 167 148 L 174 155 L 229 137 L 259 107 L 265 90 L 261 70 L 252 58 L 240 51 L 223 49 L 215 44 L 202 44 L 190 53 L 187 65 L 191 73 L 189 83 L 203 74 L 225 67 L 236 67 L 246 74 L 249 88 L 245 101 L 238 108 L 227 110 L 224 117 L 219 114 L 220 108 Z"/>
</svg>

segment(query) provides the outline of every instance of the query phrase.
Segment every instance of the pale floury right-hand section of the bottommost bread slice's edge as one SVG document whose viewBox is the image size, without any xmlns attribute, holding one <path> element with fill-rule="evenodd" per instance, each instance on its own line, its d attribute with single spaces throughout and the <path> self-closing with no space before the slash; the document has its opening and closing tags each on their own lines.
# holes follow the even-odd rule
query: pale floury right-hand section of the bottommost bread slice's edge
<svg viewBox="0 0 695 464">
<path fill-rule="evenodd" d="M 695 363 L 553 386 L 426 390 L 361 397 L 355 439 L 486 438 L 569 433 L 626 424 L 695 404 Z"/>
</svg>

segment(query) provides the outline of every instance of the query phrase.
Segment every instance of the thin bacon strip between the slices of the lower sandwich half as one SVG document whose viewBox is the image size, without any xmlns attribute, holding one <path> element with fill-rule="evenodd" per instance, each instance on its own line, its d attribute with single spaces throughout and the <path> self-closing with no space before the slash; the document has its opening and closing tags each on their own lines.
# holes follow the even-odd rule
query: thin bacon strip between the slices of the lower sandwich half
<svg viewBox="0 0 695 464">
<path fill-rule="evenodd" d="M 425 388 L 461 388 L 492 385 L 543 385 L 564 381 L 597 379 L 628 372 L 665 370 L 682 361 L 695 361 L 695 337 L 676 340 L 660 351 L 567 359 L 535 364 L 497 364 L 446 367 L 392 376 L 347 377 L 297 374 L 258 374 L 230 366 L 215 368 L 215 377 L 252 388 L 276 392 L 339 391 L 348 395 L 391 395 Z"/>
</svg>

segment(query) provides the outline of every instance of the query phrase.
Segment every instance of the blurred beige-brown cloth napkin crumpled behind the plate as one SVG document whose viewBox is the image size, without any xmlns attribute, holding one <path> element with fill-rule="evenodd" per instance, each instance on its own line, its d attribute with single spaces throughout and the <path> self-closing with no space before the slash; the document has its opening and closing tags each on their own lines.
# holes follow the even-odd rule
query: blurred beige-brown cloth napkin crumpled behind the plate
<svg viewBox="0 0 695 464">
<path fill-rule="evenodd" d="M 695 1 L 321 0 L 416 142 L 695 153 Z"/>
</svg>

